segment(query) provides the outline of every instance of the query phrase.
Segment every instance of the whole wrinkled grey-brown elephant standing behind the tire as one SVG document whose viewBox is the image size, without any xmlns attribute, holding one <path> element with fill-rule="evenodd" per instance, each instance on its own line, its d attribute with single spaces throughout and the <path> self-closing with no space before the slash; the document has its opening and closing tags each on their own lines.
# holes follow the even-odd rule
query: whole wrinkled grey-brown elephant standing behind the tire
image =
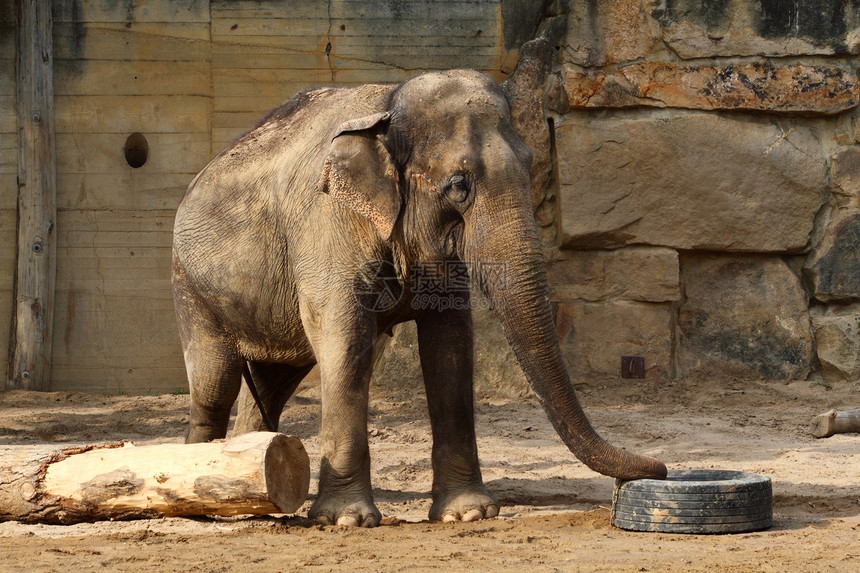
<svg viewBox="0 0 860 573">
<path fill-rule="evenodd" d="M 501 90 L 472 71 L 310 90 L 221 153 L 190 185 L 174 230 L 188 441 L 224 437 L 244 361 L 274 420 L 318 363 L 322 460 L 310 515 L 377 525 L 367 442 L 373 347 L 392 325 L 415 320 L 433 431 L 430 518 L 495 516 L 475 444 L 470 311 L 413 305 L 423 294 L 414 263 L 462 261 L 571 451 L 606 475 L 664 477 L 659 461 L 603 441 L 574 395 L 530 161 Z M 499 265 L 502 278 L 486 270 Z M 393 306 L 379 298 L 386 288 L 399 297 Z M 468 308 L 467 291 L 446 296 Z M 262 429 L 260 415 L 243 408 L 237 428 Z"/>
</svg>

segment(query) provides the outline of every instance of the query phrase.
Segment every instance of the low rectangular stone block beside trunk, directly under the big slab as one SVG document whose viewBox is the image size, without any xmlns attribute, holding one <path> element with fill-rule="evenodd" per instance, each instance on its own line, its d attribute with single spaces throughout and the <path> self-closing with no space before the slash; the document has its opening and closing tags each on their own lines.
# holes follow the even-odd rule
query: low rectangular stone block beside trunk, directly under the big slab
<svg viewBox="0 0 860 573">
<path fill-rule="evenodd" d="M 547 265 L 553 302 L 681 298 L 678 253 L 659 247 L 615 251 L 561 250 Z"/>
</svg>

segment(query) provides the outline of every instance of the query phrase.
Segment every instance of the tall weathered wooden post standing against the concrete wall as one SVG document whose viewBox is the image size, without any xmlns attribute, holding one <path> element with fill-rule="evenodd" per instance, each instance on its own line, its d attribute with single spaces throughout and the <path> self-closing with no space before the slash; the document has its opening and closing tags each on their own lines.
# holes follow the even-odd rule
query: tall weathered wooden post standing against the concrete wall
<svg viewBox="0 0 860 573">
<path fill-rule="evenodd" d="M 9 389 L 48 390 L 57 253 L 51 2 L 17 0 L 18 267 Z"/>
</svg>

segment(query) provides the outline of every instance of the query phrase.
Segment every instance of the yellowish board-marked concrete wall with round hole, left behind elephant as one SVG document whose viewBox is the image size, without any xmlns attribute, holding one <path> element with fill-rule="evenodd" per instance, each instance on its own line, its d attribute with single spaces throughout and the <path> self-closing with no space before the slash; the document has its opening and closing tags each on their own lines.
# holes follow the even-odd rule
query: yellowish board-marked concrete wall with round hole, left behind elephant
<svg viewBox="0 0 860 573">
<path fill-rule="evenodd" d="M 0 3 L 3 372 L 16 237 L 14 6 Z M 52 388 L 186 387 L 169 283 L 174 210 L 194 175 L 267 110 L 307 87 L 426 69 L 468 66 L 503 80 L 538 16 L 499 0 L 54 0 Z M 149 150 L 139 168 L 125 157 L 133 133 Z"/>
</svg>

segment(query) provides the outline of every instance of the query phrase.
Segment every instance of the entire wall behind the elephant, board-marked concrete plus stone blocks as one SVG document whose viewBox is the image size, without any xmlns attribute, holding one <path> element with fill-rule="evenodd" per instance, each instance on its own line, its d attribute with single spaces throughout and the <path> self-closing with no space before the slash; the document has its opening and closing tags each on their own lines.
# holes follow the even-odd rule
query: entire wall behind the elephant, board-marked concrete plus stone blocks
<svg viewBox="0 0 860 573">
<path fill-rule="evenodd" d="M 0 325 L 15 238 L 14 20 L 0 4 Z M 173 210 L 299 89 L 474 67 L 535 153 L 536 219 L 577 382 L 699 370 L 860 376 L 860 9 L 837 0 L 54 1 L 53 387 L 185 386 Z M 545 43 L 530 42 L 535 37 Z M 131 168 L 128 136 L 149 156 Z M 478 386 L 524 391 L 491 314 Z M 0 349 L 8 328 L 0 326 Z M 6 354 L 0 352 L 5 369 Z M 395 331 L 378 383 L 418 383 Z"/>
</svg>

